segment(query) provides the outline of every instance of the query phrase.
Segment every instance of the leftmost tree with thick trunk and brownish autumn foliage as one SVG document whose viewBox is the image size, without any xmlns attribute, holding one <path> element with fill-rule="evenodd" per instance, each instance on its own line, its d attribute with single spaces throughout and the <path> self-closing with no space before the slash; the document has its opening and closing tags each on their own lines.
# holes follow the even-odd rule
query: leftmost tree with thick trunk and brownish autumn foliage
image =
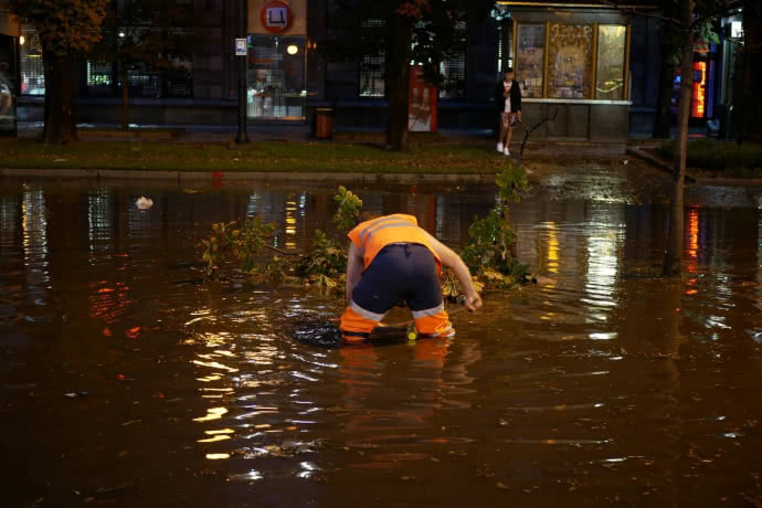
<svg viewBox="0 0 762 508">
<path fill-rule="evenodd" d="M 77 64 L 100 40 L 110 0 L 13 0 L 13 12 L 34 28 L 42 44 L 45 74 L 43 140 L 77 139 L 74 98 Z"/>
</svg>

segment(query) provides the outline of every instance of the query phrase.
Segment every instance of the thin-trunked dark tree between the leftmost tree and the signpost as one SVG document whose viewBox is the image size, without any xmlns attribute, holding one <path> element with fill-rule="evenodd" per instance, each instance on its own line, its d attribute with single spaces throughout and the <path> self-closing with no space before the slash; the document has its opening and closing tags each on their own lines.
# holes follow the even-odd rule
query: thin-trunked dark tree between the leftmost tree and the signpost
<svg viewBox="0 0 762 508">
<path fill-rule="evenodd" d="M 91 53 L 91 60 L 116 63 L 121 89 L 121 127 L 129 128 L 129 75 L 134 71 L 187 72 L 187 62 L 198 33 L 192 11 L 165 0 L 116 2 L 104 21 L 106 40 Z"/>
</svg>

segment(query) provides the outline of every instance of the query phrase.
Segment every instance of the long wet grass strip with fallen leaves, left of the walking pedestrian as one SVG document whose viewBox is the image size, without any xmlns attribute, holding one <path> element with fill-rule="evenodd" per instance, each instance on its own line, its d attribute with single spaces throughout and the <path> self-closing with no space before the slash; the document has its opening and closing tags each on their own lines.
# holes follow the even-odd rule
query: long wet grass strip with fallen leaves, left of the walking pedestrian
<svg viewBox="0 0 762 508">
<path fill-rule="evenodd" d="M 485 146 L 422 145 L 392 152 L 371 145 L 257 141 L 245 146 L 171 141 L 82 141 L 47 146 L 0 141 L 3 169 L 135 169 L 161 171 L 304 171 L 483 174 L 508 159 Z"/>
</svg>

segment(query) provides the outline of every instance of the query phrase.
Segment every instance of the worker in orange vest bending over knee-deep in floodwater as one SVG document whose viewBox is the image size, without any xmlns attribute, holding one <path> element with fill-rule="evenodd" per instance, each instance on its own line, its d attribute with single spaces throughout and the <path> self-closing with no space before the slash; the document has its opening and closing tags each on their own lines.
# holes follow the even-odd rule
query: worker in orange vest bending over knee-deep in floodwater
<svg viewBox="0 0 762 508">
<path fill-rule="evenodd" d="M 400 299 L 408 303 L 421 336 L 455 335 L 444 310 L 442 265 L 455 273 L 468 310 L 481 307 L 481 298 L 461 256 L 419 227 L 414 216 L 395 213 L 375 218 L 357 225 L 348 236 L 349 306 L 340 326 L 345 341 L 363 342 Z"/>
</svg>

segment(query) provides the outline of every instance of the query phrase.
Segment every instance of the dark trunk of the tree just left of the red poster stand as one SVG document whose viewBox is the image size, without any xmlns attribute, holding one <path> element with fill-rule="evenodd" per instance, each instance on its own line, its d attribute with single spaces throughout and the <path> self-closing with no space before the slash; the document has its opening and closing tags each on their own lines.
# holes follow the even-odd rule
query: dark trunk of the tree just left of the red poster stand
<svg viewBox="0 0 762 508">
<path fill-rule="evenodd" d="M 387 97 L 389 118 L 387 146 L 394 151 L 408 148 L 408 107 L 410 86 L 410 22 L 401 15 L 393 15 L 389 23 L 387 44 Z"/>
</svg>

